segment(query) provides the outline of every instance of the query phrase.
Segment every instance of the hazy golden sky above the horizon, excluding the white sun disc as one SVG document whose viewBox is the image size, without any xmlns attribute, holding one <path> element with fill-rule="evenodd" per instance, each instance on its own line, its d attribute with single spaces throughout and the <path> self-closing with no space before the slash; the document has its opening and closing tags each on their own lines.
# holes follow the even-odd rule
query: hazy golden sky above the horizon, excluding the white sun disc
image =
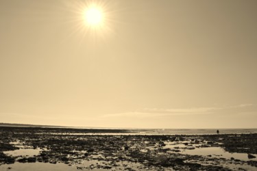
<svg viewBox="0 0 257 171">
<path fill-rule="evenodd" d="M 82 12 L 97 3 L 101 27 Z M 0 122 L 251 128 L 256 0 L 0 0 Z"/>
</svg>

